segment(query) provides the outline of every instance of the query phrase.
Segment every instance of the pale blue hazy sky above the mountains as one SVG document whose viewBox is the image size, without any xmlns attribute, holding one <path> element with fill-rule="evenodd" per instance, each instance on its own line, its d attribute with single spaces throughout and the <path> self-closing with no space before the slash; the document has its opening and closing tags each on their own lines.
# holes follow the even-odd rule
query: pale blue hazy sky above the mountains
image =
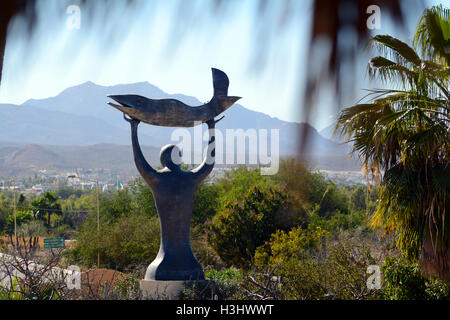
<svg viewBox="0 0 450 320">
<path fill-rule="evenodd" d="M 293 1 L 286 12 L 281 11 L 285 8 L 281 1 L 272 1 L 265 16 L 257 13 L 258 2 L 251 0 L 225 11 L 214 11 L 208 0 L 141 0 L 131 7 L 121 0 L 107 7 L 102 1 L 90 3 L 98 7 L 81 9 L 80 29 L 67 25 L 74 16 L 66 10 L 77 1 L 38 1 L 38 23 L 31 38 L 23 21 L 14 21 L 6 46 L 1 103 L 55 96 L 86 81 L 101 85 L 148 81 L 168 93 L 206 102 L 213 92 L 210 68 L 216 67 L 228 74 L 229 94 L 242 96 L 245 107 L 283 120 L 300 119 L 297 99 L 306 70 L 310 1 Z M 285 15 L 290 19 L 281 25 Z M 417 17 L 411 17 L 412 28 Z M 383 19 L 378 32 L 391 33 Z M 262 22 L 263 28 L 255 28 Z M 367 85 L 358 89 L 362 88 Z M 321 103 L 331 101 L 325 96 Z M 318 129 L 330 123 L 329 110 L 316 114 L 313 125 Z"/>
</svg>

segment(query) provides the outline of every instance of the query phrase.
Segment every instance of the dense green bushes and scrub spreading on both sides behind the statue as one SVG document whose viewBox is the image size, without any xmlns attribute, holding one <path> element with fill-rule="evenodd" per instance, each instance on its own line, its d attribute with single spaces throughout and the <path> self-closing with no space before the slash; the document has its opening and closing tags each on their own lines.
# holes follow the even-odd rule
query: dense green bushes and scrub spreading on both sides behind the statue
<svg viewBox="0 0 450 320">
<path fill-rule="evenodd" d="M 200 187 L 192 246 L 221 298 L 448 298 L 447 284 L 428 280 L 400 257 L 394 237 L 370 228 L 377 194 L 377 188 L 364 185 L 337 186 L 294 160 L 283 161 L 274 176 L 236 168 Z M 6 234 L 13 231 L 11 196 L 0 196 Z M 18 209 L 19 230 L 33 226 L 40 235 L 77 240 L 65 252 L 67 263 L 96 267 L 100 252 L 100 267 L 138 279 L 159 249 L 153 197 L 141 179 L 126 190 L 101 193 L 99 236 L 95 192 L 64 188 L 21 201 L 20 207 L 29 209 Z M 50 225 L 39 206 L 43 201 L 54 210 Z M 369 265 L 383 268 L 380 290 L 367 289 Z M 409 268 L 417 272 L 412 275 Z M 405 282 L 410 289 L 403 288 Z M 417 282 L 420 292 L 413 289 Z M 261 285 L 267 290 L 259 292 Z"/>
</svg>

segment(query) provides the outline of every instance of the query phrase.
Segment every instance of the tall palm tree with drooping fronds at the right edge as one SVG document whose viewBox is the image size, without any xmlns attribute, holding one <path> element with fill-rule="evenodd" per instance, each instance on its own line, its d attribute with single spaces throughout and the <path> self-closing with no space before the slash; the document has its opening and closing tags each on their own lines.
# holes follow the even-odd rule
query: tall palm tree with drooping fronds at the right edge
<svg viewBox="0 0 450 320">
<path fill-rule="evenodd" d="M 369 90 L 368 102 L 343 109 L 336 125 L 380 182 L 372 225 L 396 232 L 401 252 L 441 278 L 450 277 L 449 32 L 450 11 L 440 6 L 424 11 L 414 49 L 373 37 L 381 56 L 368 74 L 390 88 Z"/>
</svg>

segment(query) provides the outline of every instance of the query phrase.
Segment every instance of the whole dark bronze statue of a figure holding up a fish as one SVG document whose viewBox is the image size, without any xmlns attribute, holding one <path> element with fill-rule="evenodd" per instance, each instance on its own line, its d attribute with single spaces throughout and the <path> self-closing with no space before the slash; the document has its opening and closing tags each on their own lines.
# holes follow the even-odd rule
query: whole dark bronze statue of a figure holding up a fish
<svg viewBox="0 0 450 320">
<path fill-rule="evenodd" d="M 213 69 L 213 80 L 214 96 L 211 102 L 202 107 L 188 107 L 192 110 L 185 109 L 180 113 L 177 113 L 176 108 L 173 108 L 173 106 L 182 106 L 182 103 L 177 100 L 152 100 L 131 95 L 110 96 L 122 106 L 111 105 L 123 111 L 125 120 L 131 125 L 134 161 L 139 173 L 152 190 L 160 219 L 161 244 L 159 252 L 156 259 L 148 266 L 144 280 L 204 279 L 202 266 L 195 258 L 190 244 L 190 222 L 194 196 L 200 183 L 214 167 L 214 130 L 215 124 L 221 120 L 216 121 L 214 117 L 220 114 L 218 112 L 222 110 L 220 108 L 224 108 L 224 106 L 228 108 L 237 100 L 236 97 L 227 96 L 229 82 L 224 72 Z M 228 101 L 227 103 L 230 103 L 230 105 L 227 103 L 221 105 L 220 101 Z M 143 106 L 146 107 L 143 108 Z M 220 108 L 218 109 L 217 106 Z M 203 111 L 197 112 L 195 110 L 197 108 Z M 125 114 L 128 114 L 131 118 L 128 118 Z M 153 169 L 145 160 L 139 146 L 137 130 L 141 120 L 165 126 L 175 126 L 176 124 L 190 126 L 191 124 L 194 125 L 194 121 L 205 122 L 209 131 L 205 159 L 197 168 L 184 171 L 180 167 L 181 152 L 179 148 L 175 145 L 167 145 L 161 149 L 160 154 L 160 161 L 164 168 L 161 170 Z"/>
</svg>

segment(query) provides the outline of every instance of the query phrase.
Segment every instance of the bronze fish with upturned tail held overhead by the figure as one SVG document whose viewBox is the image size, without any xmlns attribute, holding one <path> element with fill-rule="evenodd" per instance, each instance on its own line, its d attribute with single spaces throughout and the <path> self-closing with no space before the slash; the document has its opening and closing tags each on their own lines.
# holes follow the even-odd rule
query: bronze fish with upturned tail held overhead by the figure
<svg viewBox="0 0 450 320">
<path fill-rule="evenodd" d="M 229 80 L 225 72 L 212 68 L 214 95 L 206 104 L 188 106 L 175 99 L 149 99 L 139 95 L 109 95 L 119 104 L 108 104 L 131 118 L 155 126 L 193 127 L 214 119 L 241 97 L 228 96 Z"/>
</svg>

